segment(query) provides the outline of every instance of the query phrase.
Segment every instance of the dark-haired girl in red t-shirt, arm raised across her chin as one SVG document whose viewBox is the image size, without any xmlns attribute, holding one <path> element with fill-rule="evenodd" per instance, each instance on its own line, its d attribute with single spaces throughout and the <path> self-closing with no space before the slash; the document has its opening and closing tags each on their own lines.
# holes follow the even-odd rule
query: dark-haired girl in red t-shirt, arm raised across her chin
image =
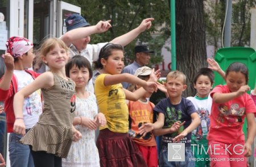
<svg viewBox="0 0 256 167">
<path fill-rule="evenodd" d="M 207 136 L 212 160 L 210 166 L 246 166 L 247 157 L 252 154 L 256 108 L 246 93 L 250 90 L 247 82 L 247 67 L 234 62 L 226 70 L 226 85 L 218 85 L 210 93 L 213 98 Z M 223 107 L 226 108 L 225 112 L 221 112 Z M 245 117 L 248 127 L 246 142 L 242 131 Z"/>
</svg>

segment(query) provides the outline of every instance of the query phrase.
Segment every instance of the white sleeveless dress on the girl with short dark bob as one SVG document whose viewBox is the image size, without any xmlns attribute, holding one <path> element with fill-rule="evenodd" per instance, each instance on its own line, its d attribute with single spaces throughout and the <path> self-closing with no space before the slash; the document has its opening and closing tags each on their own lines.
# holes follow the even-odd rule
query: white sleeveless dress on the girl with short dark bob
<svg viewBox="0 0 256 167">
<path fill-rule="evenodd" d="M 94 94 L 90 93 L 86 99 L 76 97 L 75 117 L 84 116 L 94 120 L 97 114 L 98 107 Z M 100 166 L 98 149 L 95 144 L 95 131 L 79 125 L 75 128 L 81 132 L 82 138 L 72 143 L 67 159 L 62 160 L 62 166 Z"/>
</svg>

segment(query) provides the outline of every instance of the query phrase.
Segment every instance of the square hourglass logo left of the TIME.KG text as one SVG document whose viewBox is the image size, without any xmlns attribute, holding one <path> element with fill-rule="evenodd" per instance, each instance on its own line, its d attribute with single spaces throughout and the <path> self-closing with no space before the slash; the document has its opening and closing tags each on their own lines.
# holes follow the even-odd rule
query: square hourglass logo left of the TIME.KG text
<svg viewBox="0 0 256 167">
<path fill-rule="evenodd" d="M 184 143 L 168 143 L 168 161 L 185 161 Z"/>
</svg>

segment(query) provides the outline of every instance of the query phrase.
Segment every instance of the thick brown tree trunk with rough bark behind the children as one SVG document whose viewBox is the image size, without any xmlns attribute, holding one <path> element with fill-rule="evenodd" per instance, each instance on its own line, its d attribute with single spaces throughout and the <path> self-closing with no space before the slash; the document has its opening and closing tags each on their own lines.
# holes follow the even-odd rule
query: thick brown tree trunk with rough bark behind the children
<svg viewBox="0 0 256 167">
<path fill-rule="evenodd" d="M 193 77 L 207 67 L 203 0 L 176 1 L 176 69 L 187 76 L 183 96 L 193 96 Z"/>
</svg>

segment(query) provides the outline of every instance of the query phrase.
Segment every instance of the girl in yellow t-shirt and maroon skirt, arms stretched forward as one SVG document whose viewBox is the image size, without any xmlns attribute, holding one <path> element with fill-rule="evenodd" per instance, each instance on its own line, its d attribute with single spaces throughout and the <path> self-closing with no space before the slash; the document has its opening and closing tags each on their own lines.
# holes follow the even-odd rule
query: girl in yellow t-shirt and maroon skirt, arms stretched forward
<svg viewBox="0 0 256 167">
<path fill-rule="evenodd" d="M 101 167 L 147 166 L 142 153 L 127 133 L 129 111 L 125 99 L 137 101 L 147 91 L 156 90 L 157 77 L 152 73 L 150 80 L 154 82 L 146 82 L 129 73 L 121 74 L 123 52 L 122 45 L 108 43 L 101 49 L 96 62 L 96 67 L 102 69 L 102 73 L 96 78 L 94 93 L 99 111 L 106 117 L 106 126 L 100 127 L 96 144 Z M 123 89 L 121 82 L 142 87 L 131 92 Z"/>
</svg>

